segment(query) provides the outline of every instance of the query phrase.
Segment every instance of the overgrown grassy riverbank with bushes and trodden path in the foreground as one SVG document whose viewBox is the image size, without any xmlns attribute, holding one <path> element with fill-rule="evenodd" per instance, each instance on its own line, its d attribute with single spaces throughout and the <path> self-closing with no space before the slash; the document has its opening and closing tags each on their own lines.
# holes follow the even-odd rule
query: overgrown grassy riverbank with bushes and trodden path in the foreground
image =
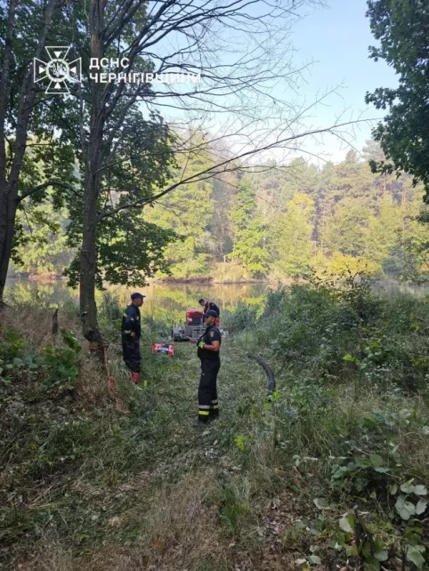
<svg viewBox="0 0 429 571">
<path fill-rule="evenodd" d="M 159 324 L 148 320 L 148 386 L 137 390 L 119 348 L 109 347 L 129 411 L 120 414 L 73 310 L 60 312 L 60 324 L 76 341 L 53 341 L 51 315 L 12 308 L 6 321 L 17 334 L 2 326 L 5 569 L 284 571 L 361 562 L 371 571 L 401 568 L 402 559 L 404 568 L 425 568 L 425 300 L 313 284 L 269 295 L 264 309 L 240 306 L 225 324 L 222 417 L 202 431 L 191 426 L 195 348 L 152 355 Z M 111 340 L 115 317 L 115 307 L 102 309 Z M 276 374 L 271 404 L 246 351 Z"/>
</svg>

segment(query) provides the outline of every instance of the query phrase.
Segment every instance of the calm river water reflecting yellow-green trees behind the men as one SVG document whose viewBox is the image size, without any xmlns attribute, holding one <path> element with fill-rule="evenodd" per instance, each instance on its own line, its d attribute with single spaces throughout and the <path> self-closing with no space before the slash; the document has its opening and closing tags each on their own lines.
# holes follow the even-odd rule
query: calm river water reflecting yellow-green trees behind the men
<svg viewBox="0 0 429 571">
<path fill-rule="evenodd" d="M 184 312 L 190 308 L 198 308 L 198 299 L 213 300 L 221 313 L 236 310 L 239 302 L 259 304 L 263 302 L 270 289 L 269 284 L 161 284 L 152 283 L 141 288 L 109 286 L 107 293 L 118 298 L 124 307 L 129 303 L 129 296 L 134 291 L 146 294 L 143 305 L 144 315 L 166 322 L 182 321 Z M 388 295 L 411 294 L 416 297 L 429 295 L 429 286 L 408 286 L 394 283 L 378 283 L 377 290 Z M 97 292 L 97 303 L 101 303 L 103 294 Z M 65 281 L 37 282 L 28 279 L 10 279 L 6 284 L 6 301 L 11 302 L 43 302 L 52 307 L 63 303 L 77 302 L 77 290 L 69 289 Z"/>
</svg>

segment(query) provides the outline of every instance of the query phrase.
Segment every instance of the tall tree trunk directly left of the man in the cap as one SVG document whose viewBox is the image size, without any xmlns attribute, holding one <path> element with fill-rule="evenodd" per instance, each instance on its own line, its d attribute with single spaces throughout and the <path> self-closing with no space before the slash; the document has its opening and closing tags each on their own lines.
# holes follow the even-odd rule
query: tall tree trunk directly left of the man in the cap
<svg viewBox="0 0 429 571">
<path fill-rule="evenodd" d="M 89 16 L 91 58 L 103 57 L 103 16 L 105 0 L 92 0 Z M 80 314 L 85 339 L 102 345 L 95 303 L 95 274 L 97 271 L 97 203 L 101 182 L 101 148 L 104 134 L 102 84 L 93 82 L 91 123 L 85 157 L 84 225 L 80 255 Z M 102 352 L 99 351 L 102 357 Z"/>
</svg>

